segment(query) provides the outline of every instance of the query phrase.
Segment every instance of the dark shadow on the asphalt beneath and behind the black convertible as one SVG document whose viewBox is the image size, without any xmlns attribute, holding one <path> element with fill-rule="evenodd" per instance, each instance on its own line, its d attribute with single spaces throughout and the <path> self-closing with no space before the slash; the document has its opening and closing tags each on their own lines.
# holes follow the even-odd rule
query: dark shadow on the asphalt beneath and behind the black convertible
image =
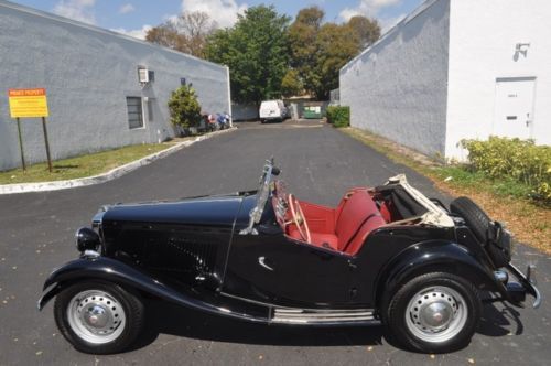
<svg viewBox="0 0 551 366">
<path fill-rule="evenodd" d="M 278 346 L 354 346 L 382 344 L 380 325 L 348 327 L 301 327 L 255 324 L 149 300 L 145 332 L 134 344 L 138 349 L 153 343 L 159 334 L 194 340 Z M 499 303 L 485 303 L 478 334 L 505 336 L 523 331 L 519 312 Z M 393 344 L 393 342 L 390 342 Z"/>
</svg>

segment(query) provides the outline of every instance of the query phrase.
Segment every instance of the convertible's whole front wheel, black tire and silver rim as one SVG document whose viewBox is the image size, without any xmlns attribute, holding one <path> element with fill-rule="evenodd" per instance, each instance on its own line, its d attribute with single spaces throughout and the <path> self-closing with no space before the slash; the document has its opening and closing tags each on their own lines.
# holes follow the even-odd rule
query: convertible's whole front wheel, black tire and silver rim
<svg viewBox="0 0 551 366">
<path fill-rule="evenodd" d="M 125 351 L 143 327 L 143 304 L 120 286 L 86 281 L 57 294 L 54 316 L 63 336 L 78 351 L 111 354 Z"/>
</svg>

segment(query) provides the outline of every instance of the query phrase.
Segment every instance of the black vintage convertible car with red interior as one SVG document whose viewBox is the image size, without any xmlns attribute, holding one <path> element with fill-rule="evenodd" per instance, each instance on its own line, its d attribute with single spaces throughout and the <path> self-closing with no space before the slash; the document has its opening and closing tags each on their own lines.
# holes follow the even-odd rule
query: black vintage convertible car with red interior
<svg viewBox="0 0 551 366">
<path fill-rule="evenodd" d="M 471 200 L 447 209 L 398 175 L 326 207 L 279 172 L 268 161 L 252 192 L 102 207 L 39 309 L 56 297 L 61 333 L 94 354 L 129 347 L 151 297 L 266 324 L 382 323 L 393 344 L 449 352 L 468 344 L 483 291 L 540 304 L 533 268 L 510 263 L 510 234 Z"/>
</svg>

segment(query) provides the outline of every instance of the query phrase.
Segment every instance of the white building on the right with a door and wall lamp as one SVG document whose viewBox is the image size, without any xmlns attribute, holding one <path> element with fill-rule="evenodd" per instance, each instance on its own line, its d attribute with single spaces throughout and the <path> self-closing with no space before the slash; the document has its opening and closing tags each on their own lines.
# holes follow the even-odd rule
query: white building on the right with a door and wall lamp
<svg viewBox="0 0 551 366">
<path fill-rule="evenodd" d="M 551 144 L 550 18 L 547 0 L 428 0 L 341 69 L 341 104 L 429 155 L 464 160 L 462 139 L 490 134 Z"/>
</svg>

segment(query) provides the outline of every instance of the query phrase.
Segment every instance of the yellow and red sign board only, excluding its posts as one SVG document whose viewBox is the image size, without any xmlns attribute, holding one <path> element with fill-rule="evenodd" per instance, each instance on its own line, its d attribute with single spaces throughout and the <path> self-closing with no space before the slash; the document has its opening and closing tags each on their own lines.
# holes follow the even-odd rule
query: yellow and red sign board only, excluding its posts
<svg viewBox="0 0 551 366">
<path fill-rule="evenodd" d="M 48 117 L 46 89 L 9 89 L 11 118 Z"/>
</svg>

